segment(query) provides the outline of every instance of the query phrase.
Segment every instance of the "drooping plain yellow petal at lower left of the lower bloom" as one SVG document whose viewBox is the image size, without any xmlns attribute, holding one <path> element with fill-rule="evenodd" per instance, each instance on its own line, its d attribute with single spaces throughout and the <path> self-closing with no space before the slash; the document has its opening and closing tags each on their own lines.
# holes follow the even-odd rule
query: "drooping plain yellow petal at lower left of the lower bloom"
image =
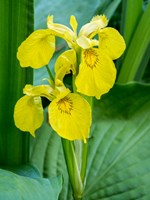
<svg viewBox="0 0 150 200">
<path fill-rule="evenodd" d="M 14 109 L 15 125 L 22 131 L 29 131 L 35 136 L 35 130 L 43 123 L 43 107 L 40 97 L 20 98 Z"/>
</svg>

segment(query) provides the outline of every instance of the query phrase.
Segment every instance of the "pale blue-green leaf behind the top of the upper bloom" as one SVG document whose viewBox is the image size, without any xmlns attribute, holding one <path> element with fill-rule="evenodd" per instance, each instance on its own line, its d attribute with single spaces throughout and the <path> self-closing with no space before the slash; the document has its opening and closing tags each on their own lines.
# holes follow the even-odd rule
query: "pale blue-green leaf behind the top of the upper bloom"
<svg viewBox="0 0 150 200">
<path fill-rule="evenodd" d="M 105 0 L 106 2 L 108 0 Z M 110 0 L 109 0 L 110 1 Z M 103 4 L 103 0 L 87 1 L 67 1 L 59 0 L 35 0 L 35 29 L 45 28 L 48 15 L 54 15 L 54 21 L 69 26 L 71 15 L 77 17 L 79 26 L 91 20 L 98 7 Z M 88 10 L 88 12 L 87 12 Z"/>
</svg>

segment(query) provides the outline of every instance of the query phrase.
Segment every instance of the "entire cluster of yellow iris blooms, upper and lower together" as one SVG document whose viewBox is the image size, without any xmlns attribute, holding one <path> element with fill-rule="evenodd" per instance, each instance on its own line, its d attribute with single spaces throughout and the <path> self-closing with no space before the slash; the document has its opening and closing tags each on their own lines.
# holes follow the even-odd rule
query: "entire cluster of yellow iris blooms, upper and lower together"
<svg viewBox="0 0 150 200">
<path fill-rule="evenodd" d="M 106 27 L 104 15 L 94 17 L 81 27 L 70 17 L 70 26 L 47 18 L 47 29 L 33 32 L 18 48 L 17 58 L 22 67 L 34 69 L 48 65 L 55 52 L 55 37 L 63 38 L 69 50 L 63 52 L 55 63 L 55 80 L 52 85 L 26 85 L 25 96 L 18 100 L 14 110 L 15 124 L 33 136 L 43 123 L 41 97 L 50 100 L 49 123 L 63 138 L 83 139 L 89 136 L 91 107 L 79 94 L 100 97 L 114 85 L 116 68 L 113 63 L 125 50 L 125 42 L 119 32 Z M 72 71 L 78 93 L 71 93 L 63 84 L 63 78 Z"/>
</svg>

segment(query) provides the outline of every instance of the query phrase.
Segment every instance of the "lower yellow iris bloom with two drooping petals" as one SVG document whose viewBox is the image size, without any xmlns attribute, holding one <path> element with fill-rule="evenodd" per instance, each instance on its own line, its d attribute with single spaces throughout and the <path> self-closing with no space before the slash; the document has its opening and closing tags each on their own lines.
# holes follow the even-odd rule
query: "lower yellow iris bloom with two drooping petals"
<svg viewBox="0 0 150 200">
<path fill-rule="evenodd" d="M 26 85 L 24 96 L 14 110 L 15 125 L 35 136 L 44 120 L 41 97 L 52 101 L 48 106 L 49 123 L 63 138 L 86 141 L 91 125 L 91 108 L 79 94 L 71 93 L 63 85 L 53 89 L 49 85 Z"/>
</svg>

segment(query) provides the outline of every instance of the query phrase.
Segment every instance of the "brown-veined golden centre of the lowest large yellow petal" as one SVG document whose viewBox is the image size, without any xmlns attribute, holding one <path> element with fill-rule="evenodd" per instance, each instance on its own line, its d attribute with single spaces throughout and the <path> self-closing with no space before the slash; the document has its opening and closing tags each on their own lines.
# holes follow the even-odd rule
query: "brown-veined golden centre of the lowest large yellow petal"
<svg viewBox="0 0 150 200">
<path fill-rule="evenodd" d="M 61 113 L 71 115 L 71 111 L 73 109 L 73 103 L 69 97 L 64 97 L 63 99 L 60 99 L 57 105 L 58 105 L 58 110 Z"/>
</svg>

